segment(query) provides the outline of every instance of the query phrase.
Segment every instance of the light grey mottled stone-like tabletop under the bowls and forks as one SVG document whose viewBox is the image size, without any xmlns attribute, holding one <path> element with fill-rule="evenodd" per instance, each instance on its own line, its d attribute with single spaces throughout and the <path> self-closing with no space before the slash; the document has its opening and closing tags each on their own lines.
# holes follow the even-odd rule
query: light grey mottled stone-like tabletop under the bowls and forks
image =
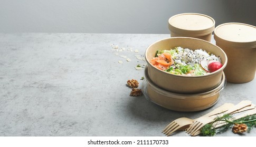
<svg viewBox="0 0 256 147">
<path fill-rule="evenodd" d="M 144 96 L 130 97 L 126 81 L 142 82 L 144 70 L 135 67 L 146 63 L 145 49 L 168 37 L 1 33 L 0 135 L 161 137 L 174 119 L 200 117 L 225 102 L 256 103 L 255 79 L 227 83 L 215 106 L 199 112 L 172 111 Z M 180 131 L 173 136 L 189 135 Z M 217 136 L 239 135 L 227 131 Z M 256 129 L 242 136 L 256 136 Z"/>
</svg>

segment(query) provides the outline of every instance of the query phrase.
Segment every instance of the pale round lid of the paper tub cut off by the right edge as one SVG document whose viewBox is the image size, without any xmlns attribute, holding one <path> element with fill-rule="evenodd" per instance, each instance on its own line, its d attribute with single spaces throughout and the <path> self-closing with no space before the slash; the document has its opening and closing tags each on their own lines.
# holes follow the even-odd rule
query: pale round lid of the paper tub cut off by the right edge
<svg viewBox="0 0 256 147">
<path fill-rule="evenodd" d="M 242 23 L 225 23 L 214 30 L 214 39 L 227 45 L 256 47 L 256 27 Z"/>
</svg>

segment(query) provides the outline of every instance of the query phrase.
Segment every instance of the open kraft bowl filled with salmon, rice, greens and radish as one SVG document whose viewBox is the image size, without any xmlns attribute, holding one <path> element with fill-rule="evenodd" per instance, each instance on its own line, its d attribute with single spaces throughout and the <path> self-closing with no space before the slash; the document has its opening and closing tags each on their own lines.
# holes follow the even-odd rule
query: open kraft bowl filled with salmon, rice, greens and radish
<svg viewBox="0 0 256 147">
<path fill-rule="evenodd" d="M 220 85 L 227 64 L 224 51 L 202 39 L 172 37 L 158 40 L 145 51 L 148 78 L 164 90 L 193 94 Z"/>
</svg>

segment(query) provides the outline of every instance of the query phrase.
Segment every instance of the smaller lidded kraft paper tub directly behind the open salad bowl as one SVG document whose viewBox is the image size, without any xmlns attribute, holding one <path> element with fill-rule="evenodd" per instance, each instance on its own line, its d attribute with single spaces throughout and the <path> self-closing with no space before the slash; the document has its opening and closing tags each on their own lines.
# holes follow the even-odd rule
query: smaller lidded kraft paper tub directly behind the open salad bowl
<svg viewBox="0 0 256 147">
<path fill-rule="evenodd" d="M 182 13 L 169 18 L 168 28 L 171 37 L 193 37 L 211 41 L 215 20 L 198 13 Z"/>
</svg>

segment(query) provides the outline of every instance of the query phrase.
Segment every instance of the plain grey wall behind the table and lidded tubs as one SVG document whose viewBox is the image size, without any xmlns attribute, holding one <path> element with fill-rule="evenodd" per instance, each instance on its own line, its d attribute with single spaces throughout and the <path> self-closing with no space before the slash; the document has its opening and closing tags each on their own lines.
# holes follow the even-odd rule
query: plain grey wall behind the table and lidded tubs
<svg viewBox="0 0 256 147">
<path fill-rule="evenodd" d="M 179 13 L 256 26 L 255 0 L 0 0 L 0 32 L 168 34 Z"/>
</svg>

